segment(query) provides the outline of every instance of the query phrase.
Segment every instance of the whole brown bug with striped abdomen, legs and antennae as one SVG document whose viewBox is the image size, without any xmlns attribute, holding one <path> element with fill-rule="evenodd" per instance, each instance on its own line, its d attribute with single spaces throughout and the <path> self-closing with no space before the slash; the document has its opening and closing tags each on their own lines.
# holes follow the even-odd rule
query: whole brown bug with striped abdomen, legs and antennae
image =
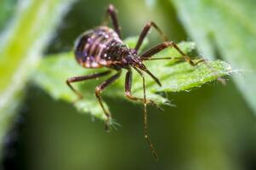
<svg viewBox="0 0 256 170">
<path fill-rule="evenodd" d="M 154 22 L 148 22 L 145 24 L 143 30 L 140 33 L 139 40 L 136 44 L 135 48 L 128 48 L 122 42 L 121 38 L 121 27 L 118 24 L 117 20 L 117 10 L 114 8 L 113 5 L 109 5 L 106 11 L 106 20 L 105 26 L 96 27 L 94 30 L 86 31 L 82 34 L 82 36 L 77 38 L 76 45 L 75 45 L 75 57 L 79 65 L 85 68 L 100 68 L 106 67 L 109 70 L 100 72 L 97 74 L 92 74 L 88 76 L 82 77 L 71 77 L 66 80 L 67 85 L 71 88 L 71 90 L 77 94 L 79 98 L 82 98 L 82 94 L 77 92 L 75 88 L 71 86 L 71 82 L 81 82 L 88 79 L 94 79 L 98 77 L 103 77 L 111 73 L 111 71 L 117 71 L 117 73 L 109 77 L 105 82 L 102 82 L 99 86 L 95 88 L 95 95 L 96 98 L 99 100 L 100 106 L 105 113 L 106 121 L 105 121 L 105 128 L 109 129 L 110 121 L 111 121 L 111 114 L 105 109 L 102 99 L 101 99 L 101 92 L 109 86 L 112 82 L 115 82 L 118 77 L 120 77 L 122 69 L 126 69 L 126 77 L 125 77 L 125 95 L 128 99 L 132 99 L 135 101 L 141 101 L 144 104 L 144 135 L 147 143 L 150 146 L 151 153 L 153 156 L 156 157 L 156 151 L 151 144 L 151 140 L 148 134 L 148 127 L 147 127 L 147 111 L 146 105 L 156 105 L 154 101 L 150 99 L 146 99 L 145 97 L 145 76 L 144 73 L 148 74 L 150 77 L 154 79 L 154 81 L 161 86 L 161 82 L 155 77 L 151 71 L 149 71 L 143 62 L 145 60 L 154 60 L 151 58 L 154 54 L 159 53 L 164 48 L 175 48 L 179 54 L 183 57 L 179 58 L 181 60 L 185 60 L 189 62 L 191 65 L 197 65 L 199 62 L 202 61 L 198 60 L 194 62 L 191 58 L 185 55 L 179 47 L 171 41 L 168 41 L 168 38 L 163 34 L 161 29 L 156 26 Z M 111 18 L 112 25 L 114 30 L 107 26 L 108 20 Z M 147 36 L 148 32 L 150 31 L 151 27 L 155 28 L 156 31 L 162 37 L 163 42 L 156 45 L 153 48 L 146 50 L 142 54 L 138 54 L 139 48 L 144 41 L 145 37 Z M 174 59 L 174 58 L 155 58 L 155 59 Z M 138 98 L 134 97 L 131 88 L 132 88 L 132 69 L 137 71 L 139 75 L 142 77 L 143 81 L 143 90 L 144 90 L 144 97 Z"/>
</svg>

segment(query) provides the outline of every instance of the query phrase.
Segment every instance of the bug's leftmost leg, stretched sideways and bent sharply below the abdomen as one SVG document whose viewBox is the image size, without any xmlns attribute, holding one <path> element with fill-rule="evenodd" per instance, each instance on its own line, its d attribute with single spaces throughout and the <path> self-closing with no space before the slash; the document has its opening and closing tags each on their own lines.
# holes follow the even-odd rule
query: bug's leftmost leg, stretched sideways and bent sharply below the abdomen
<svg viewBox="0 0 256 170">
<path fill-rule="evenodd" d="M 73 88 L 71 86 L 71 82 L 82 82 L 85 80 L 89 80 L 89 79 L 94 79 L 94 78 L 98 78 L 98 77 L 103 77 L 107 74 L 109 74 L 111 71 L 105 71 L 105 72 L 101 72 L 101 73 L 96 73 L 96 74 L 92 74 L 92 75 L 87 75 L 87 76 L 82 76 L 82 77 L 70 77 L 68 78 L 65 82 L 68 85 L 69 88 L 71 88 L 71 90 L 77 94 L 77 96 L 79 97 L 79 99 L 82 99 L 82 94 L 80 94 L 75 88 Z"/>
</svg>

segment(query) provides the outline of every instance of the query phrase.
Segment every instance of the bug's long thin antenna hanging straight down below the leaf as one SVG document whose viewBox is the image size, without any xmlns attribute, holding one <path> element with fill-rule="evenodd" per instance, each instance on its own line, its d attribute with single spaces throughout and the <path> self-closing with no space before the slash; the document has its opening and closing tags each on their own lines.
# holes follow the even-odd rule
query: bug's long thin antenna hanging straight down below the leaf
<svg viewBox="0 0 256 170">
<path fill-rule="evenodd" d="M 145 97 L 145 76 L 144 74 L 139 71 L 138 68 L 134 67 L 134 69 L 139 72 L 139 75 L 142 77 L 142 82 L 143 82 L 143 105 L 144 105 L 144 137 L 145 137 L 145 140 L 146 142 L 149 144 L 150 146 L 150 149 L 151 149 L 151 154 L 155 157 L 156 160 L 158 160 L 158 157 L 157 157 L 157 154 L 156 154 L 156 150 L 155 150 L 155 147 L 154 145 L 151 143 L 151 139 L 150 139 L 150 135 L 148 133 L 148 125 L 147 125 L 147 110 L 146 110 L 146 103 L 147 103 L 147 100 L 146 100 L 146 97 Z M 153 76 L 153 75 L 152 75 Z M 156 78 L 156 80 L 158 80 Z"/>
</svg>

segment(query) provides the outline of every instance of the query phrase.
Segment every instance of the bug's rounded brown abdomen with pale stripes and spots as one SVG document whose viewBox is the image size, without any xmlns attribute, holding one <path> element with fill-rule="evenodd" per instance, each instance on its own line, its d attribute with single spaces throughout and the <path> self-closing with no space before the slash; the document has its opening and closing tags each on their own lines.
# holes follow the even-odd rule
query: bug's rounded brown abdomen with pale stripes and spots
<svg viewBox="0 0 256 170">
<path fill-rule="evenodd" d="M 121 60 L 126 51 L 127 46 L 107 26 L 86 31 L 78 37 L 75 47 L 77 62 L 87 68 L 111 67 L 111 63 Z"/>
</svg>

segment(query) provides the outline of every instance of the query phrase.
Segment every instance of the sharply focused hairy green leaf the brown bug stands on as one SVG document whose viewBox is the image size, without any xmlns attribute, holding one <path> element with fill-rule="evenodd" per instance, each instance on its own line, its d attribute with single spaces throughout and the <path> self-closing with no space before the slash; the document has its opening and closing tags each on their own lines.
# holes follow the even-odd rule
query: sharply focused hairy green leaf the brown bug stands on
<svg viewBox="0 0 256 170">
<path fill-rule="evenodd" d="M 137 42 L 137 38 L 128 38 L 130 48 L 134 47 L 135 42 Z M 195 49 L 195 44 L 193 42 L 181 42 L 179 43 L 179 47 L 185 53 L 191 53 Z M 172 48 L 162 51 L 157 56 L 180 57 Z M 160 95 L 162 94 L 161 92 L 178 92 L 197 88 L 206 82 L 215 80 L 217 77 L 229 75 L 231 72 L 230 65 L 220 60 L 210 61 L 207 64 L 202 63 L 196 66 L 191 66 L 187 62 L 174 64 L 174 60 L 154 60 L 147 61 L 146 63 L 148 69 L 162 82 L 162 87 L 158 87 L 151 77 L 146 76 L 147 98 L 155 100 L 158 105 L 168 102 L 168 99 Z M 65 80 L 68 77 L 88 75 L 104 70 L 104 68 L 98 70 L 82 68 L 77 65 L 73 53 L 53 54 L 42 60 L 37 71 L 35 71 L 34 81 L 54 97 L 54 99 L 63 99 L 67 102 L 74 103 L 79 111 L 90 113 L 100 119 L 105 119 L 103 111 L 94 96 L 94 88 L 107 77 L 73 83 L 74 87 L 82 92 L 84 96 L 84 99 L 77 102 L 74 102 L 77 96 L 65 84 Z M 126 99 L 124 95 L 124 72 L 122 72 L 122 77 L 117 82 L 114 82 L 105 90 L 103 93 L 104 96 Z M 143 96 L 142 80 L 138 74 L 134 74 L 132 91 L 135 96 Z"/>
</svg>

